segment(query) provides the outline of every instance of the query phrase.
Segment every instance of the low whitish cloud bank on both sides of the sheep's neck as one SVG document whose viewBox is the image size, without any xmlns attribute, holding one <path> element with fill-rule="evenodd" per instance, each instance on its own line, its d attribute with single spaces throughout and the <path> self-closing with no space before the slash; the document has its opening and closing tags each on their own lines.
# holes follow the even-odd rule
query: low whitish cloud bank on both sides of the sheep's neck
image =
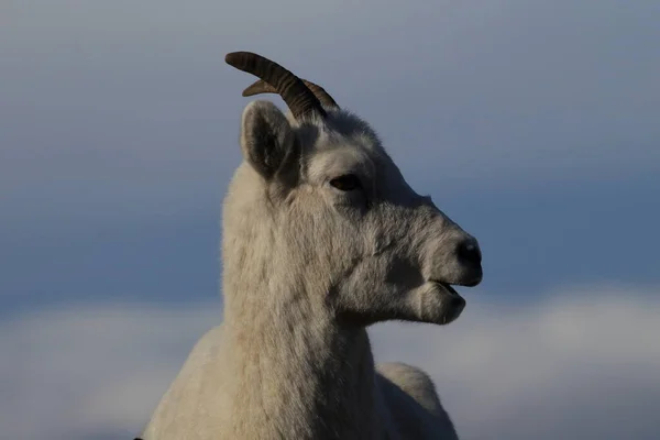
<svg viewBox="0 0 660 440">
<path fill-rule="evenodd" d="M 377 361 L 427 370 L 470 439 L 656 439 L 658 289 L 563 289 L 514 306 L 470 300 L 446 328 L 372 329 Z M 218 302 L 85 305 L 0 323 L 8 438 L 131 438 Z"/>
</svg>

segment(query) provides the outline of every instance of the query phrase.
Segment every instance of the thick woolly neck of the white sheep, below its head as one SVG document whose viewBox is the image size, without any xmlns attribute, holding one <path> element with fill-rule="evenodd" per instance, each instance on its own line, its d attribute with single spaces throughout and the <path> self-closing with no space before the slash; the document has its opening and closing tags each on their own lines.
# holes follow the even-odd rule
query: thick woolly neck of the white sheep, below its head
<svg viewBox="0 0 660 440">
<path fill-rule="evenodd" d="M 268 285 L 226 294 L 234 438 L 372 438 L 377 409 L 366 330 L 338 324 L 310 299 L 322 295 Z"/>
</svg>

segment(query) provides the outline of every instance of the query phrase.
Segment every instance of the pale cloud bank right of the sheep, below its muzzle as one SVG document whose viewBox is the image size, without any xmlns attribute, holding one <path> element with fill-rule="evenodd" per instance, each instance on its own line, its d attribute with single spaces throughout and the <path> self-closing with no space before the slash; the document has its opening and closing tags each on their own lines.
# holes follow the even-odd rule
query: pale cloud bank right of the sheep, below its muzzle
<svg viewBox="0 0 660 440">
<path fill-rule="evenodd" d="M 455 326 L 386 324 L 374 346 L 381 360 L 432 372 L 463 439 L 656 439 L 657 295 L 573 289 L 517 309 L 469 302 Z"/>
</svg>

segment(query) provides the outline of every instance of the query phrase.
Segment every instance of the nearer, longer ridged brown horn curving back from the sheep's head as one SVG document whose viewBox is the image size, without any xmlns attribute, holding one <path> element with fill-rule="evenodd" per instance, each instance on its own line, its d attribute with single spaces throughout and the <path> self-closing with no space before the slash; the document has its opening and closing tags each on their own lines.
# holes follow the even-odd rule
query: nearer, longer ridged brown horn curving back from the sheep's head
<svg viewBox="0 0 660 440">
<path fill-rule="evenodd" d="M 232 52 L 227 54 L 224 62 L 271 85 L 296 119 L 300 120 L 311 114 L 326 117 L 321 102 L 305 82 L 277 63 L 252 52 Z"/>
</svg>

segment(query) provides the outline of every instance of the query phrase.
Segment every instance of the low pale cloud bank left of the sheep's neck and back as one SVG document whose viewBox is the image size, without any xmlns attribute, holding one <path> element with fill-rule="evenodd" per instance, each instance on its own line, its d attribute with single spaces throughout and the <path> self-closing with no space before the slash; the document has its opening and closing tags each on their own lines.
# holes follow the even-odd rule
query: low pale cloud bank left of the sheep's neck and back
<svg viewBox="0 0 660 440">
<path fill-rule="evenodd" d="M 132 438 L 219 304 L 80 306 L 0 324 L 0 426 L 21 439 Z"/>
</svg>

